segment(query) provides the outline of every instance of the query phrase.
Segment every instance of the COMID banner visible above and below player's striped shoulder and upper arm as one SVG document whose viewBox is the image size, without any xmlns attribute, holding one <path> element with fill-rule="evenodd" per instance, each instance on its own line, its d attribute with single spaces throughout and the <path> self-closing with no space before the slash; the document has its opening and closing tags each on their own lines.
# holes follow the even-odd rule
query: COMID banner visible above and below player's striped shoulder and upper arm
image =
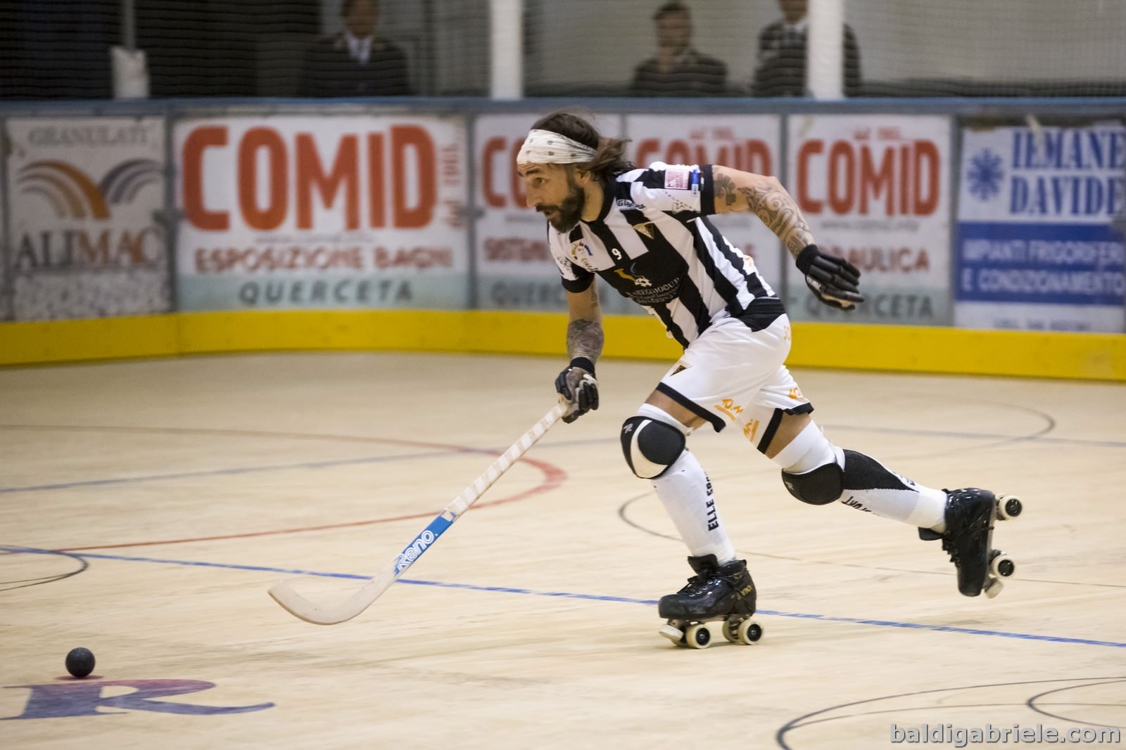
<svg viewBox="0 0 1126 750">
<path fill-rule="evenodd" d="M 637 166 L 722 164 L 744 172 L 774 174 L 781 170 L 781 118 L 776 115 L 631 115 L 629 157 Z M 783 247 L 753 214 L 724 214 L 711 220 L 745 254 L 767 283 L 780 290 Z"/>
</svg>

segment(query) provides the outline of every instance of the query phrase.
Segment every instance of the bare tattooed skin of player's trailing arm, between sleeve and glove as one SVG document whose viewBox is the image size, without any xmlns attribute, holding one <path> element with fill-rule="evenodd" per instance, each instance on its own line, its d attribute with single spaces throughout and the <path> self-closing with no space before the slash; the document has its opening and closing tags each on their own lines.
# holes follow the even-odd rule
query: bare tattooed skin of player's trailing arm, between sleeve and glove
<svg viewBox="0 0 1126 750">
<path fill-rule="evenodd" d="M 753 213 L 781 238 L 794 257 L 813 244 L 810 225 L 778 178 L 716 165 L 712 168 L 712 180 L 716 214 Z"/>
</svg>

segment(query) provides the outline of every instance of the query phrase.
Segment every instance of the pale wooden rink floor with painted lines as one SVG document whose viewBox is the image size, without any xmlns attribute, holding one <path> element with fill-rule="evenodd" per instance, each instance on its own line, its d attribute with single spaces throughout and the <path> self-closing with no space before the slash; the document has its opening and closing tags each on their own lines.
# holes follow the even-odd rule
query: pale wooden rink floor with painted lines
<svg viewBox="0 0 1126 750">
<path fill-rule="evenodd" d="M 560 365 L 0 370 L 0 747 L 867 749 L 923 725 L 1126 726 L 1120 385 L 796 372 L 838 445 L 1022 496 L 995 599 L 959 596 L 913 528 L 803 505 L 741 435 L 701 432 L 766 635 L 673 647 L 655 599 L 687 552 L 617 439 L 667 364 L 623 361 L 599 364 L 600 410 L 557 424 L 356 620 L 267 596 L 296 578 L 347 598 L 543 416 Z M 84 680 L 63 668 L 79 645 Z"/>
</svg>

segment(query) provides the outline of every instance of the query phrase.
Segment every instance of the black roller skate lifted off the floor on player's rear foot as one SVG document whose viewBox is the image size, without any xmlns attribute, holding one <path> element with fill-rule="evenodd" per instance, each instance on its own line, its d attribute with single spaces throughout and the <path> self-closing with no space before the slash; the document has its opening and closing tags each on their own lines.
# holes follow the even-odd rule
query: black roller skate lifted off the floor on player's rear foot
<svg viewBox="0 0 1126 750">
<path fill-rule="evenodd" d="M 985 489 L 946 490 L 946 533 L 920 528 L 919 539 L 942 540 L 942 550 L 958 569 L 958 590 L 964 596 L 993 598 L 1004 588 L 1002 578 L 1017 570 L 1012 559 L 993 549 L 993 523 L 1020 515 L 1024 506 L 1013 495 L 994 497 Z"/>
</svg>

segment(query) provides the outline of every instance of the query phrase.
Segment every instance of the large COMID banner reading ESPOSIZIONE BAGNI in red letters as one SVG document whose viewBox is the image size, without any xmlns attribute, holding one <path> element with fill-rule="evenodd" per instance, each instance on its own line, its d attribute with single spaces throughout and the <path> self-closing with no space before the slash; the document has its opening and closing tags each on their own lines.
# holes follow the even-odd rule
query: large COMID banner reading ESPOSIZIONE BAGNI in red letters
<svg viewBox="0 0 1126 750">
<path fill-rule="evenodd" d="M 177 123 L 180 308 L 462 309 L 461 117 Z"/>
</svg>

